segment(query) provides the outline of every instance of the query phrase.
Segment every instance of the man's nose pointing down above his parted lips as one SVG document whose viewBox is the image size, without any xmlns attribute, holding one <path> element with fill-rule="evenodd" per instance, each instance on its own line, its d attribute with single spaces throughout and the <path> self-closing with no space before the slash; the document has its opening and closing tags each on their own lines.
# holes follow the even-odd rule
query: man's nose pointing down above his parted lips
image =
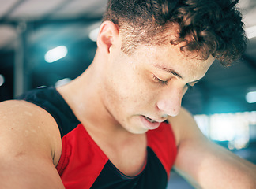
<svg viewBox="0 0 256 189">
<path fill-rule="evenodd" d="M 178 88 L 168 88 L 160 95 L 156 102 L 156 107 L 162 113 L 175 117 L 179 114 L 181 109 L 181 102 L 183 98 L 183 90 Z"/>
</svg>

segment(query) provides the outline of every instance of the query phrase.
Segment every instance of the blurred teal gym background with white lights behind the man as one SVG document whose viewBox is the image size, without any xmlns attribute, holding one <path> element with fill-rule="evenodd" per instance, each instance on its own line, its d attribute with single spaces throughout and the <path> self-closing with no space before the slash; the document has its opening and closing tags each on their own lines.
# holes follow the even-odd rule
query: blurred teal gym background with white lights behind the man
<svg viewBox="0 0 256 189">
<path fill-rule="evenodd" d="M 107 0 L 0 0 L 0 102 L 59 86 L 92 62 Z M 214 142 L 256 163 L 256 0 L 239 8 L 249 38 L 241 60 L 215 62 L 183 106 Z M 192 188 L 171 172 L 168 188 Z"/>
</svg>

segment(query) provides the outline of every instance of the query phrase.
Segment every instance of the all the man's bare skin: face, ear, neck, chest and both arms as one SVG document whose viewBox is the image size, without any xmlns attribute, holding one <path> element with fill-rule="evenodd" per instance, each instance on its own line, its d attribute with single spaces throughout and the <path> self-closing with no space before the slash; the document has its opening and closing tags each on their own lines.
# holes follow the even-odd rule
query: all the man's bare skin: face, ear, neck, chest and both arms
<svg viewBox="0 0 256 189">
<path fill-rule="evenodd" d="M 92 65 L 57 90 L 115 167 L 127 176 L 141 172 L 145 132 L 168 119 L 178 150 L 175 169 L 190 183 L 256 187 L 256 166 L 209 142 L 181 108 L 187 88 L 205 76 L 213 57 L 186 57 L 170 44 L 124 54 L 122 35 L 110 21 L 101 25 L 97 46 Z M 55 169 L 62 153 L 55 119 L 24 101 L 2 102 L 0 115 L 0 188 L 64 188 Z"/>
</svg>

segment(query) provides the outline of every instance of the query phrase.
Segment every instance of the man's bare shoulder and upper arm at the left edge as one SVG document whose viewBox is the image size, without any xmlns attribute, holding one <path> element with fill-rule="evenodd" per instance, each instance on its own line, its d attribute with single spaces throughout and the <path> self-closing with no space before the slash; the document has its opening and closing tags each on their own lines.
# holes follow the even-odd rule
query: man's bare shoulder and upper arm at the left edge
<svg viewBox="0 0 256 189">
<path fill-rule="evenodd" d="M 55 169 L 61 150 L 55 120 L 24 101 L 0 103 L 0 187 L 63 188 Z"/>
</svg>

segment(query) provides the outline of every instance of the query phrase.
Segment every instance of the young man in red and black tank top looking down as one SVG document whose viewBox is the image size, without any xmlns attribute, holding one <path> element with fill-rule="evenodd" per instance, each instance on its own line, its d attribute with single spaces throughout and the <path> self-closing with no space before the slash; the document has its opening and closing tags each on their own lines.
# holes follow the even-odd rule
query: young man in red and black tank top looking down
<svg viewBox="0 0 256 189">
<path fill-rule="evenodd" d="M 229 0 L 110 0 L 92 65 L 0 106 L 0 188 L 255 188 L 256 166 L 205 139 L 181 108 L 214 60 L 245 49 Z M 22 100 L 23 99 L 23 100 Z"/>
</svg>

